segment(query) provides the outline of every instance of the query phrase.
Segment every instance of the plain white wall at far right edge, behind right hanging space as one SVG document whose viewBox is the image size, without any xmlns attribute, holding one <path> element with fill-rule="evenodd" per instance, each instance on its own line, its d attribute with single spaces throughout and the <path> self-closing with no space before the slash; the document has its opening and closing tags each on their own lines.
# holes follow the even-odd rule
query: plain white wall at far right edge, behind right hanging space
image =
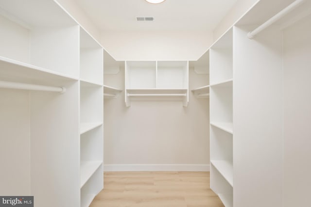
<svg viewBox="0 0 311 207">
<path fill-rule="evenodd" d="M 310 206 L 311 16 L 284 31 L 284 207 Z"/>
</svg>

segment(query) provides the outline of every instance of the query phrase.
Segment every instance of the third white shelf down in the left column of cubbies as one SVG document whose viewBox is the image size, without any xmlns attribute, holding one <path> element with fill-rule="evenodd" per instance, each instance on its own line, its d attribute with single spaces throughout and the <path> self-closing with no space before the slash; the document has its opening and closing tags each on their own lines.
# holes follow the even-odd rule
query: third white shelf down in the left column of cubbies
<svg viewBox="0 0 311 207">
<path fill-rule="evenodd" d="M 95 173 L 102 163 L 103 161 L 81 161 L 80 188 L 86 184 L 87 180 Z"/>
</svg>

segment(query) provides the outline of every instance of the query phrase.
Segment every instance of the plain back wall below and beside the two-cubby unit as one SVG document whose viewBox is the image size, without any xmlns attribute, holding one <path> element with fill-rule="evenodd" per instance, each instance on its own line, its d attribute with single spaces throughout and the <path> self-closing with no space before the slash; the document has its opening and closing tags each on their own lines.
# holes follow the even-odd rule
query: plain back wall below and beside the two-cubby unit
<svg viewBox="0 0 311 207">
<path fill-rule="evenodd" d="M 124 89 L 124 69 L 105 75 L 104 83 Z M 190 70 L 190 89 L 206 85 L 208 76 Z M 104 170 L 208 170 L 208 99 L 190 92 L 182 101 L 131 101 L 124 92 L 104 101 Z M 155 165 L 155 166 L 150 166 Z"/>
</svg>

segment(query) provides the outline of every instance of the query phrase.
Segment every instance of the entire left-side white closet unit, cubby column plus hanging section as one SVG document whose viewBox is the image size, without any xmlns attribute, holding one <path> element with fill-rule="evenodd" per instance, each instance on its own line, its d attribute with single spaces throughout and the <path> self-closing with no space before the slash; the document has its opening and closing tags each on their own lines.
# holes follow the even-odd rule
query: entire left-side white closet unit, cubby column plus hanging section
<svg viewBox="0 0 311 207">
<path fill-rule="evenodd" d="M 0 14 L 0 194 L 87 207 L 103 189 L 103 48 L 52 0 Z"/>
</svg>

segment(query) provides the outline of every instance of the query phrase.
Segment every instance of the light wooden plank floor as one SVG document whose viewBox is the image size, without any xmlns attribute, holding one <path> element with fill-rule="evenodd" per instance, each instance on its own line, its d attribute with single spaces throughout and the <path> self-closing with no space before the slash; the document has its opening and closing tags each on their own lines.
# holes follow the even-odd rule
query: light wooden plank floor
<svg viewBox="0 0 311 207">
<path fill-rule="evenodd" d="M 109 172 L 90 207 L 224 207 L 209 172 Z"/>
</svg>

